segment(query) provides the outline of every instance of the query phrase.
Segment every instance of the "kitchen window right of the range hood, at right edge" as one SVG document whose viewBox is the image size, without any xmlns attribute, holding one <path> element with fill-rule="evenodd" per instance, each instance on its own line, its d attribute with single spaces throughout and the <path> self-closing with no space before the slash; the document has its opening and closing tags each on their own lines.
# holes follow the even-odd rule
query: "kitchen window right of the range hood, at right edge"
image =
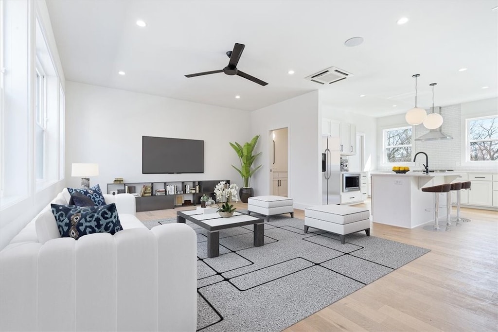
<svg viewBox="0 0 498 332">
<path fill-rule="evenodd" d="M 498 160 L 498 117 L 467 119 L 467 160 Z"/>
</svg>

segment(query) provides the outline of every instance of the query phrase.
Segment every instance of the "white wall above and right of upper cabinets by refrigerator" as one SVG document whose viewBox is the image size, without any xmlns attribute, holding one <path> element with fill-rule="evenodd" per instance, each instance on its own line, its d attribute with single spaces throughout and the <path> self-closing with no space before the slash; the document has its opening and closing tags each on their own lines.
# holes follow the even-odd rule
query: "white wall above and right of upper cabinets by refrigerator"
<svg viewBox="0 0 498 332">
<path fill-rule="evenodd" d="M 367 167 L 362 171 L 368 172 L 377 167 L 377 125 L 374 117 L 336 109 L 327 104 L 322 105 L 322 117 L 355 124 L 356 132 L 365 134 L 364 163 Z"/>
</svg>

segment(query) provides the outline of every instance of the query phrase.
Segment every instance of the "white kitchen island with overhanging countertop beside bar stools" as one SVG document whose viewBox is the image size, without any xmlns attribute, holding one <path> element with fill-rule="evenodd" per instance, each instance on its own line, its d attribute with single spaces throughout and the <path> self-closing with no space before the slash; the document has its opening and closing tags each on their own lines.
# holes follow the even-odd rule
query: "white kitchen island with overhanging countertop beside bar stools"
<svg viewBox="0 0 498 332">
<path fill-rule="evenodd" d="M 373 222 L 392 226 L 414 228 L 434 221 L 434 194 L 421 190 L 423 187 L 451 183 L 459 172 L 411 173 L 372 172 Z M 445 220 L 446 193 L 439 199 L 439 221 Z"/>
</svg>

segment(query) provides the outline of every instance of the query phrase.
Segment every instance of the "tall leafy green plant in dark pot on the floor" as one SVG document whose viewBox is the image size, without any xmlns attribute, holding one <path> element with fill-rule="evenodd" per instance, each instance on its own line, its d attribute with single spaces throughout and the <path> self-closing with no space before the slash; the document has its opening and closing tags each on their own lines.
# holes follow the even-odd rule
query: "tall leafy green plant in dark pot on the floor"
<svg viewBox="0 0 498 332">
<path fill-rule="evenodd" d="M 255 171 L 257 171 L 262 165 L 256 166 L 252 168 L 252 163 L 254 163 L 254 160 L 261 154 L 261 152 L 256 153 L 255 155 L 252 154 L 254 151 L 254 146 L 256 146 L 257 140 L 259 138 L 259 135 L 254 136 L 250 142 L 246 142 L 244 146 L 241 144 L 235 142 L 235 143 L 230 143 L 230 146 L 235 150 L 237 155 L 239 156 L 239 160 L 241 162 L 241 168 L 237 168 L 234 165 L 232 165 L 233 168 L 235 168 L 239 174 L 242 176 L 242 180 L 244 182 L 244 186 L 240 189 L 239 191 L 239 196 L 241 197 L 241 201 L 244 203 L 248 202 L 249 197 L 254 196 L 254 189 L 249 187 L 250 184 L 250 178 L 254 174 Z"/>
</svg>

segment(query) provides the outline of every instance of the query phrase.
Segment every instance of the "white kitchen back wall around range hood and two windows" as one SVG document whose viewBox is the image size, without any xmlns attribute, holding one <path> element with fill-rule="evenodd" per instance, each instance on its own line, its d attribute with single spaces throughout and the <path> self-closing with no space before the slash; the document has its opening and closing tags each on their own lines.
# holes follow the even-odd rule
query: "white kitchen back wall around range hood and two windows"
<svg viewBox="0 0 498 332">
<path fill-rule="evenodd" d="M 428 112 L 430 110 L 427 110 Z M 436 107 L 437 111 L 437 107 Z M 442 107 L 443 125 L 441 130 L 452 136 L 453 139 L 441 141 L 413 141 L 412 155 L 419 151 L 426 152 L 429 156 L 429 168 L 431 169 L 454 169 L 457 171 L 484 171 L 497 172 L 496 162 L 465 162 L 465 119 L 480 116 L 498 115 L 498 98 L 486 99 L 457 105 Z M 406 126 L 403 114 L 377 118 L 377 158 L 382 160 L 382 130 L 386 128 Z M 412 136 L 417 138 L 429 130 L 422 124 L 413 126 Z M 420 159 L 425 163 L 425 158 Z M 422 169 L 417 158 L 415 163 L 408 164 L 412 169 Z M 391 169 L 392 165 L 379 162 L 378 169 Z"/>
</svg>

